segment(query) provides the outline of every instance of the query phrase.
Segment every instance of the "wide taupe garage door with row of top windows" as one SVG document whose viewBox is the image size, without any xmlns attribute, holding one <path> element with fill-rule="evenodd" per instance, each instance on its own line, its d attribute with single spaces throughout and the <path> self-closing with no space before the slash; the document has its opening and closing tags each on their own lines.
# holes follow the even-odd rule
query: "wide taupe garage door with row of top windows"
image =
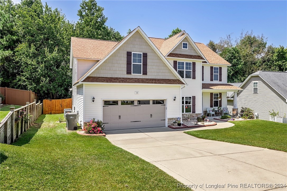
<svg viewBox="0 0 287 191">
<path fill-rule="evenodd" d="M 105 130 L 165 126 L 165 100 L 103 101 Z"/>
</svg>

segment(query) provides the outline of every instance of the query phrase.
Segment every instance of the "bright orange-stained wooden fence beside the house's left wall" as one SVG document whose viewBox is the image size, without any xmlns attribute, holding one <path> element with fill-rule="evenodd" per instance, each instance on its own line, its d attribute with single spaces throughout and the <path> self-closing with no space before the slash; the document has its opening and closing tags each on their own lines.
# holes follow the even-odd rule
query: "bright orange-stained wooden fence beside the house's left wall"
<svg viewBox="0 0 287 191">
<path fill-rule="evenodd" d="M 60 114 L 64 109 L 72 109 L 72 98 L 43 100 L 43 114 Z"/>
</svg>

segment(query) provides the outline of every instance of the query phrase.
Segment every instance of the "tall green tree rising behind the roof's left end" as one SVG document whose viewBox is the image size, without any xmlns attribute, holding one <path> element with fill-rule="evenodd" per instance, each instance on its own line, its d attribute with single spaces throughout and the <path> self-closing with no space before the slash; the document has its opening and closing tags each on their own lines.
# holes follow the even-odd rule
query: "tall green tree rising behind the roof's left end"
<svg viewBox="0 0 287 191">
<path fill-rule="evenodd" d="M 78 10 L 79 21 L 75 25 L 75 36 L 101 40 L 121 41 L 123 36 L 112 27 L 105 25 L 107 17 L 104 8 L 95 0 L 83 0 Z"/>
</svg>

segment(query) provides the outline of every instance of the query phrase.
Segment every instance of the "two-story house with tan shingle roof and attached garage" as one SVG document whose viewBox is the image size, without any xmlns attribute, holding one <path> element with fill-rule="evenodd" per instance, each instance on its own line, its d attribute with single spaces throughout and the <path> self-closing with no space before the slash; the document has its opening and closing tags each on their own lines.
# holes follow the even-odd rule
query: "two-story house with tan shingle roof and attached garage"
<svg viewBox="0 0 287 191">
<path fill-rule="evenodd" d="M 226 92 L 240 90 L 227 84 L 228 66 L 185 31 L 149 38 L 137 27 L 120 42 L 72 37 L 73 111 L 81 125 L 95 118 L 106 130 L 168 126 L 226 107 Z"/>
</svg>

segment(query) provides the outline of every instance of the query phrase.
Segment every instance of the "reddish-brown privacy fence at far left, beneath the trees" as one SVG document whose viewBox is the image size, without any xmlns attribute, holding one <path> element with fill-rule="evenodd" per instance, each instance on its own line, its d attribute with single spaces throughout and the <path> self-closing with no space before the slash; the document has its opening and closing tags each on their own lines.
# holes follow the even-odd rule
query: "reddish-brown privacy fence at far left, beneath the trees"
<svg viewBox="0 0 287 191">
<path fill-rule="evenodd" d="M 8 105 L 26 105 L 26 102 L 32 103 L 34 99 L 37 100 L 37 94 L 28 90 L 18 90 L 13 88 L 0 88 L 1 94 L 5 96 L 2 100 L 3 104 Z"/>
</svg>

